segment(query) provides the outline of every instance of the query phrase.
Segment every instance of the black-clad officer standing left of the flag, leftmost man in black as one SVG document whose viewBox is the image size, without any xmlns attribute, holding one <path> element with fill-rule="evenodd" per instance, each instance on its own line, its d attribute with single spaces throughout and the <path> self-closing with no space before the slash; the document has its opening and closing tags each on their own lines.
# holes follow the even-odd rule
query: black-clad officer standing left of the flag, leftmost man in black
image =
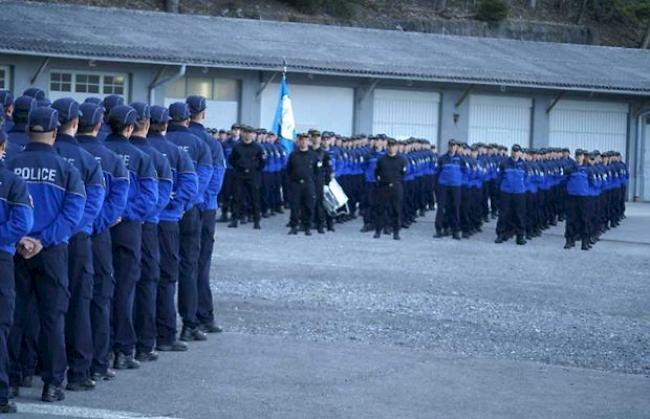
<svg viewBox="0 0 650 419">
<path fill-rule="evenodd" d="M 234 210 L 228 225 L 237 228 L 237 221 L 244 217 L 244 202 L 248 198 L 253 212 L 253 228 L 260 229 L 260 177 L 264 168 L 264 151 L 254 142 L 254 130 L 248 125 L 241 127 L 242 141 L 232 150 L 229 162 L 233 167 Z"/>
</svg>

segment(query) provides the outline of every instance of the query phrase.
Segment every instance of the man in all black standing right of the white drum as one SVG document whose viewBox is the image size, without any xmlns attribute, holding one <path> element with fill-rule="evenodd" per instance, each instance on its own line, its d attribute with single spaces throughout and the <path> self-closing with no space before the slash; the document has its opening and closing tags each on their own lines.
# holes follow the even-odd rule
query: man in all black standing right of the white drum
<svg viewBox="0 0 650 419">
<path fill-rule="evenodd" d="M 379 211 L 375 221 L 374 238 L 381 237 L 381 232 L 388 225 L 393 229 L 393 239 L 399 240 L 402 225 L 402 201 L 404 199 L 403 181 L 406 175 L 406 159 L 397 153 L 398 143 L 393 138 L 387 141 L 387 152 L 377 160 L 375 178 L 377 179 L 377 204 Z"/>
</svg>

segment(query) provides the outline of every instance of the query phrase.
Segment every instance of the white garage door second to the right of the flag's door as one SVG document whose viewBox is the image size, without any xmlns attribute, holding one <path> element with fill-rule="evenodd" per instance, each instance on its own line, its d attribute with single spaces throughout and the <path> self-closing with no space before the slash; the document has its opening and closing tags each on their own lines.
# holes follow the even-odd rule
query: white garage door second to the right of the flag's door
<svg viewBox="0 0 650 419">
<path fill-rule="evenodd" d="M 468 142 L 530 145 L 530 98 L 471 95 Z"/>
</svg>

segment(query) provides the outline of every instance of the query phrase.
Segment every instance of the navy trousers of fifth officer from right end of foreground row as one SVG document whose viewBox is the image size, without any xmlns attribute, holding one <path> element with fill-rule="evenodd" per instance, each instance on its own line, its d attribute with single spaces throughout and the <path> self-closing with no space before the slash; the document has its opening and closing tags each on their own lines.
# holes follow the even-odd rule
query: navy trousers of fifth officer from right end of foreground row
<svg viewBox="0 0 650 419">
<path fill-rule="evenodd" d="M 111 227 L 113 246 L 113 272 L 115 291 L 113 293 L 113 351 L 132 355 L 135 347 L 133 328 L 133 304 L 135 284 L 140 279 L 140 257 L 142 252 L 142 223 L 122 221 Z"/>
</svg>

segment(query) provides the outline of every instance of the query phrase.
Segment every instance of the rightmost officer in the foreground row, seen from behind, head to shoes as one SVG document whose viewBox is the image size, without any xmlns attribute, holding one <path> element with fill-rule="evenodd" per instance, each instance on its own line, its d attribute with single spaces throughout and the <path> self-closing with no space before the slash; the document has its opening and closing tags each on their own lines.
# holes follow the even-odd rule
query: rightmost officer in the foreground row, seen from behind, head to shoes
<svg viewBox="0 0 650 419">
<path fill-rule="evenodd" d="M 206 130 L 203 121 L 206 118 L 207 103 L 203 96 L 190 96 L 186 103 L 190 109 L 190 131 L 199 137 L 210 149 L 213 172 L 210 183 L 205 190 L 203 202 L 199 204 L 201 217 L 201 250 L 198 266 L 199 302 L 196 317 L 200 328 L 206 333 L 219 333 L 221 328 L 214 321 L 214 305 L 210 288 L 210 266 L 214 249 L 214 230 L 217 221 L 217 197 L 221 192 L 226 160 L 221 144 Z"/>
</svg>

